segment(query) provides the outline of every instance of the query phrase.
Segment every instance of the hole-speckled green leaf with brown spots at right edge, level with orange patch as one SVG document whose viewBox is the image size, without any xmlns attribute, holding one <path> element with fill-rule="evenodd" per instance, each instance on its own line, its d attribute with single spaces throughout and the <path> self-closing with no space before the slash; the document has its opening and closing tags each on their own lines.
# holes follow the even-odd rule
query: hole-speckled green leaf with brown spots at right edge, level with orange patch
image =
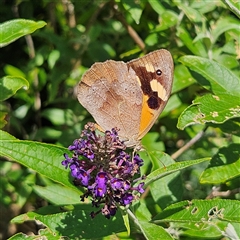
<svg viewBox="0 0 240 240">
<path fill-rule="evenodd" d="M 207 122 L 220 124 L 229 119 L 240 117 L 239 97 L 229 94 L 206 94 L 193 101 L 178 119 L 177 127 L 184 129 L 193 124 Z"/>
</svg>

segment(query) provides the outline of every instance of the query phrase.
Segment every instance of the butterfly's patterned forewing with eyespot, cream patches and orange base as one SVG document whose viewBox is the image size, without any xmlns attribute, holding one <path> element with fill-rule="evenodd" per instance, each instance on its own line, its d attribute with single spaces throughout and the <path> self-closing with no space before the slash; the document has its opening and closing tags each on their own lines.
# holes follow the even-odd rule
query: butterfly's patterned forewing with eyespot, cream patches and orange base
<svg viewBox="0 0 240 240">
<path fill-rule="evenodd" d="M 137 76 L 143 93 L 141 124 L 138 138 L 141 139 L 163 111 L 171 94 L 173 60 L 165 50 L 157 50 L 127 63 Z"/>
</svg>

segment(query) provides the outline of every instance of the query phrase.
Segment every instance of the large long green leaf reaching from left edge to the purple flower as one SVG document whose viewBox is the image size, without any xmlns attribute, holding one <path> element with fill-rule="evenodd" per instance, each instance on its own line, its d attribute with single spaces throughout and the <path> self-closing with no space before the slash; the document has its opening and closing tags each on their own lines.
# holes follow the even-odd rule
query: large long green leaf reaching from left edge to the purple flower
<svg viewBox="0 0 240 240">
<path fill-rule="evenodd" d="M 65 170 L 61 164 L 64 160 L 64 153 L 70 153 L 70 151 L 63 147 L 39 142 L 0 140 L 1 156 L 10 158 L 53 181 L 79 191 L 71 183 L 69 171 Z"/>
</svg>

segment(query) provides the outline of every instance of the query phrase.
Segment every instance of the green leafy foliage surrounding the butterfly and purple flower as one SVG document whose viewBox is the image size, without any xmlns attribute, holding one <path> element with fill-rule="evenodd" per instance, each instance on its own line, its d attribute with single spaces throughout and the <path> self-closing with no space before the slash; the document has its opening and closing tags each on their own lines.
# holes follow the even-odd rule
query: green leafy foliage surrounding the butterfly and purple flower
<svg viewBox="0 0 240 240">
<path fill-rule="evenodd" d="M 22 239 L 20 232 L 34 232 L 33 239 L 240 238 L 239 3 L 1 0 L 0 6 L 2 239 Z M 129 61 L 160 48 L 173 56 L 174 84 L 142 140 L 147 191 L 133 216 L 128 212 L 135 223 L 120 213 L 90 220 L 91 205 L 80 204 L 81 190 L 61 166 L 66 147 L 93 121 L 76 99 L 76 85 L 94 62 Z M 46 228 L 11 227 L 26 220 Z"/>
</svg>

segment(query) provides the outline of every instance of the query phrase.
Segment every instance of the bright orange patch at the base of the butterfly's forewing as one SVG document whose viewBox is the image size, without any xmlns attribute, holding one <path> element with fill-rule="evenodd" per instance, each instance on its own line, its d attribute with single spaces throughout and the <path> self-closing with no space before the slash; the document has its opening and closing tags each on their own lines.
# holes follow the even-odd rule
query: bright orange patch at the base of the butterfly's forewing
<svg viewBox="0 0 240 240">
<path fill-rule="evenodd" d="M 148 128 L 154 117 L 153 110 L 151 110 L 147 104 L 148 96 L 143 95 L 142 114 L 139 128 L 139 136 Z"/>
</svg>

